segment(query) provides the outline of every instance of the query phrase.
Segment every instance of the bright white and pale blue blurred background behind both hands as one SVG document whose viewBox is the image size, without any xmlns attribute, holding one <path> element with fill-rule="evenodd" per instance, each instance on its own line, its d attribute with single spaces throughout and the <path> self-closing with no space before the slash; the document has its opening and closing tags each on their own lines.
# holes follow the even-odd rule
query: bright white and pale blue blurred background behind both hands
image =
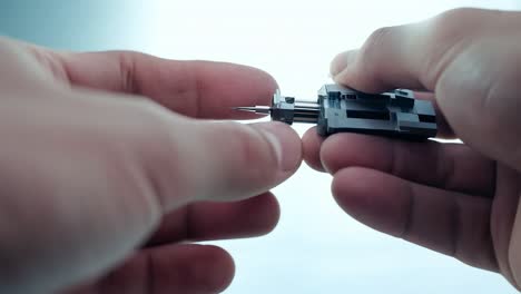
<svg viewBox="0 0 521 294">
<path fill-rule="evenodd" d="M 314 99 L 337 52 L 379 27 L 455 7 L 513 10 L 521 1 L 1 0 L 0 33 L 63 50 L 246 63 L 272 74 L 283 95 Z M 225 293 L 517 293 L 497 274 L 358 224 L 335 205 L 330 182 L 303 165 L 275 189 L 282 218 L 271 235 L 213 243 L 236 261 Z"/>
</svg>

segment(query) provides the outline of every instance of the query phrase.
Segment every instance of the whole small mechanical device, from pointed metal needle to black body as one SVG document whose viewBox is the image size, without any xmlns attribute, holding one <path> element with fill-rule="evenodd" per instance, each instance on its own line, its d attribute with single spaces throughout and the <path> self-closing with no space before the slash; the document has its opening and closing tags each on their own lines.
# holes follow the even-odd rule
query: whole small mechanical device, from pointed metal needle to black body
<svg viewBox="0 0 521 294">
<path fill-rule="evenodd" d="M 366 94 L 340 85 L 324 85 L 316 102 L 297 101 L 277 90 L 272 106 L 236 107 L 269 114 L 272 120 L 316 124 L 321 136 L 361 133 L 423 140 L 435 137 L 436 115 L 432 102 L 416 100 L 411 90 Z"/>
</svg>

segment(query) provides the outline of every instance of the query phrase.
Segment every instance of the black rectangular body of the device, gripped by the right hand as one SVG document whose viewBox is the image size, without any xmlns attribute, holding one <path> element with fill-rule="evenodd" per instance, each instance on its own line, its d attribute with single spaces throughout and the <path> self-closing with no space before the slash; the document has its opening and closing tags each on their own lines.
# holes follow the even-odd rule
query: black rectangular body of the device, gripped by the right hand
<svg viewBox="0 0 521 294">
<path fill-rule="evenodd" d="M 325 85 L 318 90 L 317 102 L 321 136 L 344 131 L 413 140 L 436 136 L 432 104 L 414 99 L 411 90 L 372 95 L 338 85 Z"/>
</svg>

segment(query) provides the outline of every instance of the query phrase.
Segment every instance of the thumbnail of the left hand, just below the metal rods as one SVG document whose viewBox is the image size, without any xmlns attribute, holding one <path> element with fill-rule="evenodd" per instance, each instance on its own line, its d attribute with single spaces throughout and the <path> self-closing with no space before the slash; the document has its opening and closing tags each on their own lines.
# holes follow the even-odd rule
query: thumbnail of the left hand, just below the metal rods
<svg viewBox="0 0 521 294">
<path fill-rule="evenodd" d="M 272 144 L 283 171 L 294 170 L 302 160 L 302 140 L 289 126 L 283 122 L 250 124 Z"/>
</svg>

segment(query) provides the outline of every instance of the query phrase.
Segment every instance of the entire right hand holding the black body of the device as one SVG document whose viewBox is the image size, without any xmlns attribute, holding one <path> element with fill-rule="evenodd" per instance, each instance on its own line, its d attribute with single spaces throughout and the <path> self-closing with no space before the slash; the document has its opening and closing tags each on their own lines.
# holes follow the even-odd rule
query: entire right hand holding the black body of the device
<svg viewBox="0 0 521 294">
<path fill-rule="evenodd" d="M 336 82 L 368 92 L 417 89 L 442 137 L 406 143 L 304 136 L 304 157 L 334 176 L 340 206 L 390 235 L 500 272 L 521 286 L 521 13 L 458 9 L 384 28 L 338 55 Z"/>
</svg>

